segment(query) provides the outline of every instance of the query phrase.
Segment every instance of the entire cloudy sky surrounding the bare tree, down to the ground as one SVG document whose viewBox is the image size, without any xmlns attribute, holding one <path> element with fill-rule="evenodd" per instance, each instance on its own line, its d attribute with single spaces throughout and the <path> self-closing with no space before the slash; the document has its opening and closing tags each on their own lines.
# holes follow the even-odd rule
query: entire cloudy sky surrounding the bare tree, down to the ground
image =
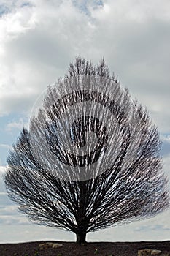
<svg viewBox="0 0 170 256">
<path fill-rule="evenodd" d="M 0 0 L 0 243 L 75 240 L 72 233 L 29 222 L 2 180 L 8 151 L 36 100 L 75 56 L 94 64 L 104 57 L 122 86 L 147 107 L 170 179 L 169 31 L 169 0 Z M 169 214 L 89 233 L 88 241 L 169 240 Z"/>
</svg>

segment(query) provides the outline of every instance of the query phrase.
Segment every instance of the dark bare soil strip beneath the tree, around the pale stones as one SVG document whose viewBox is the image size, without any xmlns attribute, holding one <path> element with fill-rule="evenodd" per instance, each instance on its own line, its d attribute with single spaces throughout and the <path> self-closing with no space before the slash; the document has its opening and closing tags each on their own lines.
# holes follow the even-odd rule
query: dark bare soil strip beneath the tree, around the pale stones
<svg viewBox="0 0 170 256">
<path fill-rule="evenodd" d="M 170 256 L 170 241 L 162 242 L 96 242 L 78 245 L 74 242 L 53 241 L 63 244 L 58 249 L 39 250 L 44 241 L 0 244 L 0 256 L 137 256 L 139 249 L 159 249 L 161 255 Z"/>
</svg>

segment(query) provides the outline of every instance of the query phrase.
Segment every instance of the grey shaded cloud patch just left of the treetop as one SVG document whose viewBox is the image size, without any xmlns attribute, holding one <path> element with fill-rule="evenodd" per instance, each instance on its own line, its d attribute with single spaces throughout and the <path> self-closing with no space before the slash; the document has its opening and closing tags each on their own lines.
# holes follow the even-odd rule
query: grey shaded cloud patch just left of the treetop
<svg viewBox="0 0 170 256">
<path fill-rule="evenodd" d="M 58 24 L 55 25 L 58 29 Z M 27 64 L 36 63 L 34 75 L 36 69 L 43 68 L 43 65 L 53 66 L 55 69 L 66 67 L 66 59 L 71 59 L 73 47 L 74 45 L 69 45 L 69 38 L 63 39 L 62 35 L 55 35 L 55 31 L 52 34 L 51 31 L 40 27 L 20 35 L 18 39 L 7 45 L 8 57 L 11 56 L 13 60 L 18 59 Z"/>
</svg>

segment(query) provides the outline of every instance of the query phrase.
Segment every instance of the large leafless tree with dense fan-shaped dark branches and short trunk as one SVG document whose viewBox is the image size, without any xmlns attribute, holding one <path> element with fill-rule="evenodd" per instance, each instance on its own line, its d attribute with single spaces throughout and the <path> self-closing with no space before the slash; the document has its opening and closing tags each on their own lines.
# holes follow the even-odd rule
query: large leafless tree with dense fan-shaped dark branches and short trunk
<svg viewBox="0 0 170 256">
<path fill-rule="evenodd" d="M 104 59 L 95 67 L 77 57 L 21 131 L 4 181 L 32 221 L 71 230 L 82 244 L 88 232 L 169 206 L 160 145 L 147 110 Z"/>
</svg>

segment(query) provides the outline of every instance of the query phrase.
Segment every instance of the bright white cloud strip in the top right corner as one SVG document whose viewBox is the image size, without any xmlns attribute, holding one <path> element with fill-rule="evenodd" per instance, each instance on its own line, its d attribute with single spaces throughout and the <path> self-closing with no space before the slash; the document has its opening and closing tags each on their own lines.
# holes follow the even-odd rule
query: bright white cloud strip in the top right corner
<svg viewBox="0 0 170 256">
<path fill-rule="evenodd" d="M 96 10 L 94 15 L 101 20 L 108 19 L 107 17 L 110 15 L 111 22 L 113 22 L 114 18 L 117 22 L 132 20 L 134 22 L 144 23 L 146 20 L 150 20 L 152 18 L 169 21 L 169 7 L 169 0 L 163 0 L 161 2 L 158 0 L 106 0 L 104 1 L 104 8 L 101 8 L 99 12 Z M 112 14 L 114 17 L 111 19 Z"/>
</svg>

